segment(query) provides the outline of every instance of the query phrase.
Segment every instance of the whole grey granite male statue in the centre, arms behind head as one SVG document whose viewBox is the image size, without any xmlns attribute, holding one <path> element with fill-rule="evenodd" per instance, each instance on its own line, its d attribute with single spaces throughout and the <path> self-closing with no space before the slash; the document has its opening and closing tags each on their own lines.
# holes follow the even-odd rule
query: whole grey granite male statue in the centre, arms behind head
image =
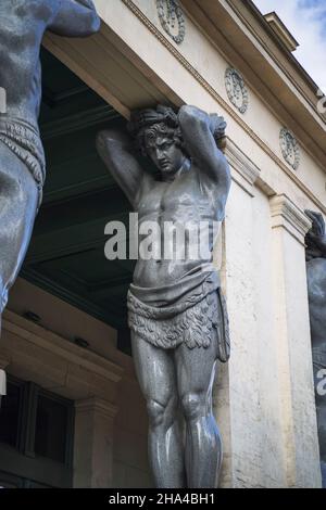
<svg viewBox="0 0 326 510">
<path fill-rule="evenodd" d="M 99 135 L 99 153 L 138 212 L 140 229 L 150 220 L 162 232 L 167 221 L 208 221 L 212 230 L 214 221 L 224 219 L 230 173 L 216 140 L 225 126 L 223 118 L 193 106 L 176 114 L 160 105 L 131 115 L 131 138 L 159 175 L 141 168 L 129 136 L 115 130 Z M 186 238 L 187 243 L 189 248 Z M 140 257 L 128 293 L 133 354 L 147 400 L 149 457 L 158 487 L 214 487 L 221 466 L 212 385 L 216 360 L 228 359 L 229 342 L 213 243 L 212 235 L 208 255 L 198 258 Z M 179 408 L 186 420 L 185 446 Z"/>
</svg>

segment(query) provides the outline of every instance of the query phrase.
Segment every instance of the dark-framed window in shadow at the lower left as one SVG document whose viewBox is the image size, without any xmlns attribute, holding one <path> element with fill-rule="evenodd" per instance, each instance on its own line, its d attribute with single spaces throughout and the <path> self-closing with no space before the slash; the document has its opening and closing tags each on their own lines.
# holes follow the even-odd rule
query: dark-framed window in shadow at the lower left
<svg viewBox="0 0 326 510">
<path fill-rule="evenodd" d="M 8 378 L 0 409 L 0 485 L 16 480 L 23 487 L 71 486 L 73 436 L 72 400 Z"/>
</svg>

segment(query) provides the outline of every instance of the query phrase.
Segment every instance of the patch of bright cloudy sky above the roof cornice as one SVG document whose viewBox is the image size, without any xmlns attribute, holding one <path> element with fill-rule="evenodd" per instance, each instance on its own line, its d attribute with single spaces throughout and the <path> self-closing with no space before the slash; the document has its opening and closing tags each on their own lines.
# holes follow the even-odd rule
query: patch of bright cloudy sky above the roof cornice
<svg viewBox="0 0 326 510">
<path fill-rule="evenodd" d="M 326 0 L 253 0 L 275 11 L 300 43 L 293 55 L 326 94 Z"/>
</svg>

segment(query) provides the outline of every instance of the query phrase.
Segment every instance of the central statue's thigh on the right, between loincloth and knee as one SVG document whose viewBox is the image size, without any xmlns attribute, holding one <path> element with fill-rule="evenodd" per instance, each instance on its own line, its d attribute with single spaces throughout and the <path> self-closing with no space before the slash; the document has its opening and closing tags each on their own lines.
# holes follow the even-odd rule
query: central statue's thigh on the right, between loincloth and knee
<svg viewBox="0 0 326 510">
<path fill-rule="evenodd" d="M 210 346 L 190 349 L 181 344 L 175 350 L 175 365 L 179 397 L 202 395 L 210 397 L 216 370 L 217 336 Z"/>
</svg>

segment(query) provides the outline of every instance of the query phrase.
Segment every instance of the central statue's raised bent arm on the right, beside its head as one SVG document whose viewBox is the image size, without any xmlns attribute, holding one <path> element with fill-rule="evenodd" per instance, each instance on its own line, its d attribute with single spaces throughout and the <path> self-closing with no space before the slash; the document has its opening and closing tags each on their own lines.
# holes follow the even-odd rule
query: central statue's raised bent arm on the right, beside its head
<svg viewBox="0 0 326 510">
<path fill-rule="evenodd" d="M 217 115 L 208 115 L 196 106 L 181 106 L 179 124 L 186 149 L 202 174 L 218 182 L 228 192 L 230 170 L 216 140 L 223 133 L 225 123 Z M 214 138 L 215 137 L 215 138 Z"/>
</svg>

